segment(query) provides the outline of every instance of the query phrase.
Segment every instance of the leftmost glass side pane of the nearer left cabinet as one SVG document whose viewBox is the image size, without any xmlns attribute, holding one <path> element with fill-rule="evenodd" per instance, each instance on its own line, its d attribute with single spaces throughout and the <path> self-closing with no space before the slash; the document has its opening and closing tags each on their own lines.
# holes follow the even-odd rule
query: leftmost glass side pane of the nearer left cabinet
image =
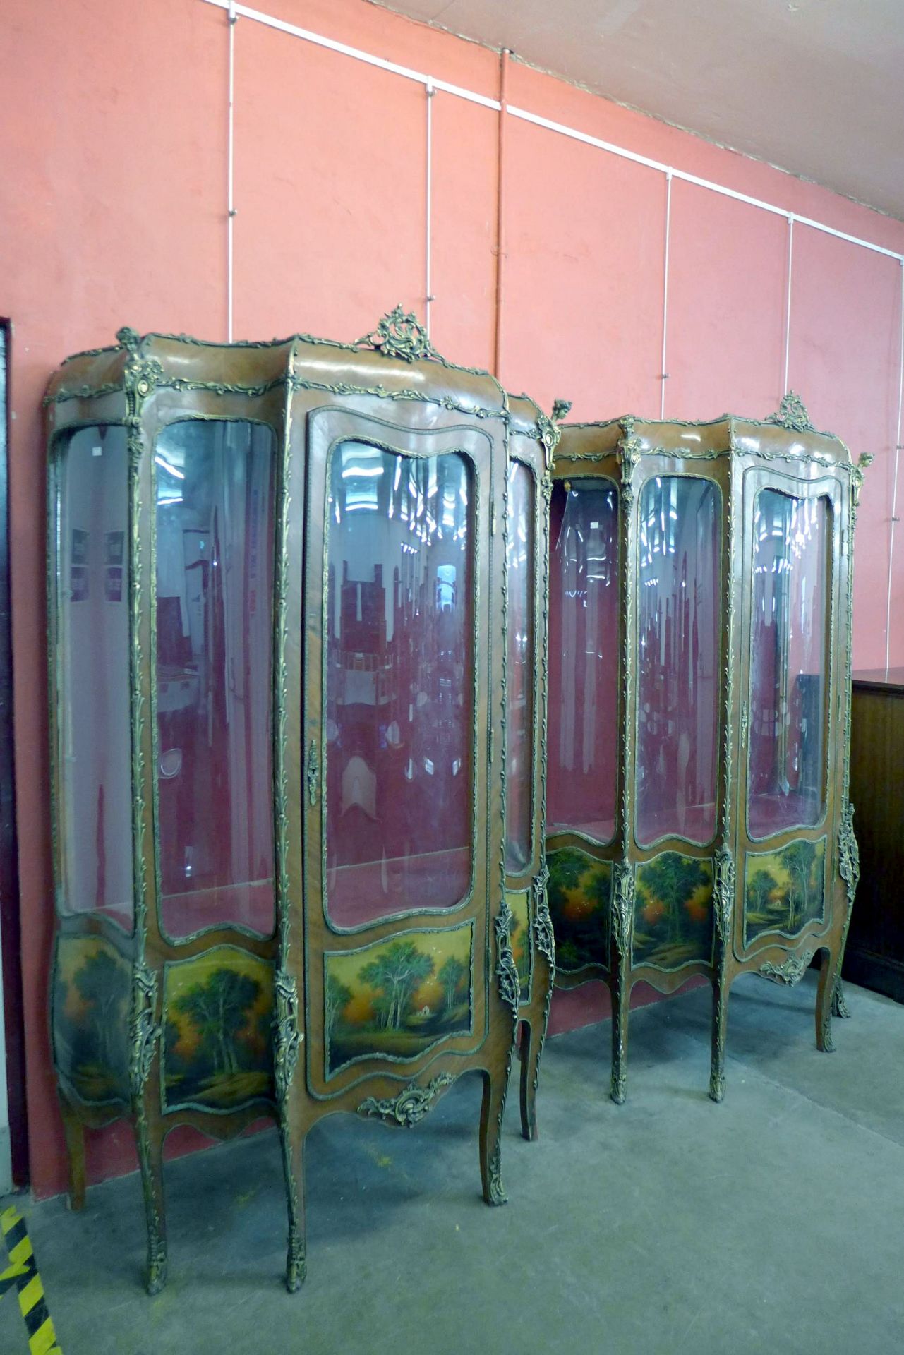
<svg viewBox="0 0 904 1355">
<path fill-rule="evenodd" d="M 64 913 L 133 927 L 129 457 L 121 427 L 65 436 L 57 472 L 57 829 Z"/>
</svg>

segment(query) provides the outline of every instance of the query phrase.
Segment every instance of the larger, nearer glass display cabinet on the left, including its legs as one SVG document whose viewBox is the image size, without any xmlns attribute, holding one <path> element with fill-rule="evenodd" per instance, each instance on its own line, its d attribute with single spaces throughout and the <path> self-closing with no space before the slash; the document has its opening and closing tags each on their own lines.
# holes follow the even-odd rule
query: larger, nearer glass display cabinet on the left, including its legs
<svg viewBox="0 0 904 1355">
<path fill-rule="evenodd" d="M 130 1118 L 155 1291 L 168 1131 L 272 1115 L 295 1289 L 320 1117 L 411 1126 L 478 1070 L 501 1203 L 522 1022 L 534 1123 L 557 430 L 398 308 L 356 344 L 117 337 L 46 397 L 70 1196 Z"/>
</svg>

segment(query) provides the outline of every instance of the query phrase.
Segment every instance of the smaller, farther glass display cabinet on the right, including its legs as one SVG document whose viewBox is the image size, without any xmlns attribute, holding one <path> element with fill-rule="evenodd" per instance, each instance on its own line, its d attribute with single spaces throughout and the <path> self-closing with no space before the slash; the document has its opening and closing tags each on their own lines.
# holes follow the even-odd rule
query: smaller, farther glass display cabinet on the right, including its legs
<svg viewBox="0 0 904 1355">
<path fill-rule="evenodd" d="M 771 419 L 571 424 L 550 520 L 549 905 L 561 986 L 802 977 L 816 1039 L 857 886 L 851 547 L 863 466 L 789 394 Z"/>
</svg>

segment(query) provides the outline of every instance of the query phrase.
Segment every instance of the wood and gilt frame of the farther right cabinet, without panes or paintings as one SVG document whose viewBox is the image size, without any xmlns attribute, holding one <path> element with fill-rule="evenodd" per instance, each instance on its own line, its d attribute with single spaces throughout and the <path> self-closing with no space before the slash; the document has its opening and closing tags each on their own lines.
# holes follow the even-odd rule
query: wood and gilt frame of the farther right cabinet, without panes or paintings
<svg viewBox="0 0 904 1355">
<path fill-rule="evenodd" d="M 675 992 L 693 976 L 713 986 L 713 1050 L 710 1096 L 725 1089 L 725 1033 L 728 993 L 739 973 L 755 972 L 775 982 L 796 982 L 815 955 L 821 957 L 816 1003 L 816 1038 L 831 1049 L 831 1015 L 847 1015 L 840 991 L 844 939 L 857 888 L 857 843 L 848 798 L 850 672 L 851 672 L 851 550 L 857 501 L 865 466 L 854 465 L 836 438 L 816 432 L 800 400 L 782 401 L 766 421 L 724 416 L 709 424 L 641 423 L 623 419 L 609 424 L 571 424 L 562 428 L 556 455 L 557 481 L 611 481 L 618 488 L 621 589 L 618 645 L 618 721 L 615 831 L 602 843 L 561 822 L 548 832 L 549 866 L 556 873 L 557 852 L 583 852 L 588 869 L 611 878 L 607 944 L 587 963 L 560 970 L 561 986 L 603 978 L 613 999 L 611 1095 L 625 1099 L 628 1015 L 634 982 L 645 981 L 661 993 Z M 706 844 L 670 836 L 638 846 L 637 789 L 637 503 L 653 476 L 702 477 L 721 496 L 721 659 L 717 688 L 717 802 L 716 833 Z M 828 583 L 827 665 L 824 702 L 824 813 L 812 828 L 787 828 L 766 840 L 747 833 L 748 686 L 751 648 L 751 514 L 754 495 L 773 488 L 798 499 L 831 503 L 831 560 Z M 558 699 L 556 692 L 550 699 Z M 821 916 L 783 935 L 763 930 L 745 938 L 745 866 L 768 846 L 781 852 L 806 840 L 824 852 L 825 902 Z M 638 962 L 633 951 L 636 886 L 644 863 L 665 851 L 706 860 L 712 874 L 712 950 L 667 972 Z M 560 938 L 561 940 L 561 938 Z"/>
</svg>

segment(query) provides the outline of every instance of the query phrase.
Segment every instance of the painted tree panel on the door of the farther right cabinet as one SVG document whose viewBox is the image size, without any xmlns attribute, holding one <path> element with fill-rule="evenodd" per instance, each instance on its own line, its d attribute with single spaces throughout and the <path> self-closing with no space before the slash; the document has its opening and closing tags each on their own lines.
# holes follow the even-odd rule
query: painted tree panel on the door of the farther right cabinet
<svg viewBox="0 0 904 1355">
<path fill-rule="evenodd" d="M 748 852 L 744 870 L 744 936 L 781 931 L 794 936 L 823 916 L 825 839 L 805 837 L 781 851 Z"/>
</svg>

